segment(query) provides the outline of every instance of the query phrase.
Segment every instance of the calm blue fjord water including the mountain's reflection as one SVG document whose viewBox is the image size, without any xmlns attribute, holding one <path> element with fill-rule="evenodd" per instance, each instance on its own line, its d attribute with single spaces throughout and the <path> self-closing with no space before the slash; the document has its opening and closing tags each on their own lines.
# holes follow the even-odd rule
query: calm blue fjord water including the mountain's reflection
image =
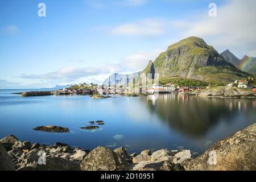
<svg viewBox="0 0 256 182">
<path fill-rule="evenodd" d="M 214 142 L 255 122 L 256 100 L 204 98 L 180 94 L 149 97 L 89 96 L 20 97 L 0 90 L 0 138 L 13 134 L 20 140 L 41 144 L 68 143 L 92 150 L 98 146 L 128 152 L 145 148 L 190 149 L 196 154 Z M 87 131 L 89 121 L 103 120 L 99 130 Z M 44 125 L 68 127 L 70 133 L 43 133 Z"/>
</svg>

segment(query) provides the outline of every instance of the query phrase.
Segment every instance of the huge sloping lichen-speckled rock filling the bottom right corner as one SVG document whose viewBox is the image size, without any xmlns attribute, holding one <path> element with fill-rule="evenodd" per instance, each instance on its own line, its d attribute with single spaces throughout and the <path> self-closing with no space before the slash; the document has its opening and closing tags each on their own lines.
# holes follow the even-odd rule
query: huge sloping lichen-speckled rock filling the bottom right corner
<svg viewBox="0 0 256 182">
<path fill-rule="evenodd" d="M 256 170 L 256 123 L 210 147 L 184 164 L 186 170 Z"/>
</svg>

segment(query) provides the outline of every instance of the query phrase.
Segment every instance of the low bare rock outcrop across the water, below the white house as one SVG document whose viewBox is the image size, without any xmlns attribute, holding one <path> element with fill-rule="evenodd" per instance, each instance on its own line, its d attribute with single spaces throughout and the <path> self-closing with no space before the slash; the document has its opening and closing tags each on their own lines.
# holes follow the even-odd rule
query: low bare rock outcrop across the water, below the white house
<svg viewBox="0 0 256 182">
<path fill-rule="evenodd" d="M 229 86 L 216 86 L 209 89 L 195 90 L 187 93 L 188 95 L 200 96 L 200 97 L 238 97 L 255 98 L 256 93 L 244 88 L 230 88 Z"/>
</svg>

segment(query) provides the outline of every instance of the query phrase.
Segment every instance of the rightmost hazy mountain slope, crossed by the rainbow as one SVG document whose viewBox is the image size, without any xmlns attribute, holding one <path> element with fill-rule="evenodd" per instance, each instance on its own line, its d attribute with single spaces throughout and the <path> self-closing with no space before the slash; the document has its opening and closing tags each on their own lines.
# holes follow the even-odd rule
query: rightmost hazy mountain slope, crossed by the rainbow
<svg viewBox="0 0 256 182">
<path fill-rule="evenodd" d="M 256 57 L 243 56 L 239 68 L 242 71 L 256 76 Z"/>
</svg>

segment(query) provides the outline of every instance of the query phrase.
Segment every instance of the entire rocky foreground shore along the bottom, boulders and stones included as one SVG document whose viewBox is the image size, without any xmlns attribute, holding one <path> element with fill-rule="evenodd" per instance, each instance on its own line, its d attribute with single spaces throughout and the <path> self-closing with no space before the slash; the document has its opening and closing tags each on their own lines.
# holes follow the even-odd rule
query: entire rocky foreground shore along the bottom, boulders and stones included
<svg viewBox="0 0 256 182">
<path fill-rule="evenodd" d="M 53 146 L 31 144 L 10 135 L 0 140 L 0 170 L 256 170 L 256 123 L 217 142 L 197 158 L 192 158 L 190 150 L 143 150 L 137 155 L 127 154 L 124 147 L 100 146 L 90 151 L 60 142 Z"/>
</svg>

